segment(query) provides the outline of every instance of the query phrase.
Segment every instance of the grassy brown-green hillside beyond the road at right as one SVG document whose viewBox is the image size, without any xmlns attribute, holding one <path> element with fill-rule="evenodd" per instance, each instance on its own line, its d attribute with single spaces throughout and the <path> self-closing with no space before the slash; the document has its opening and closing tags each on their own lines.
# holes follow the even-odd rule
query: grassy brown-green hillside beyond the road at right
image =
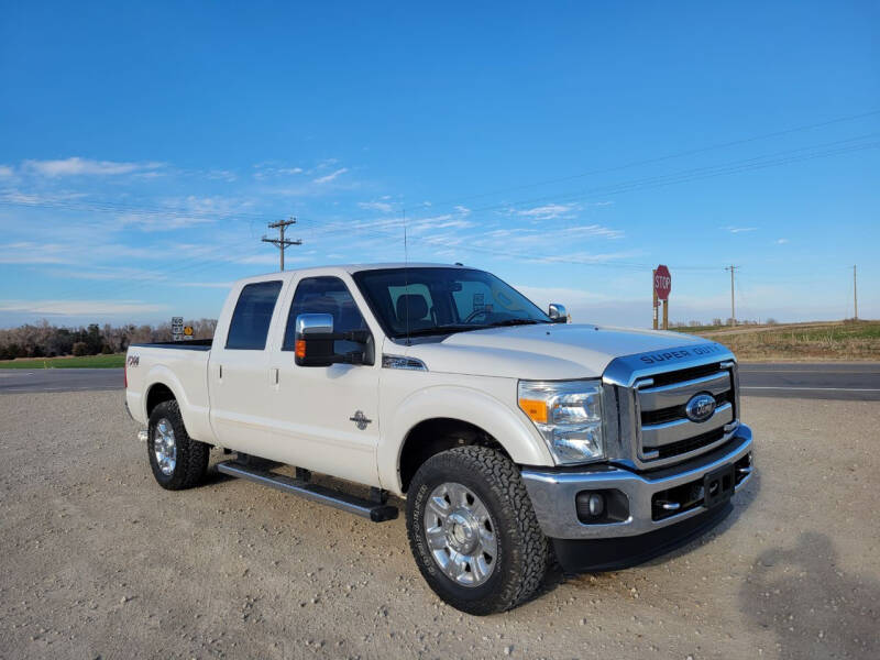
<svg viewBox="0 0 880 660">
<path fill-rule="evenodd" d="M 740 360 L 878 360 L 880 321 L 674 328 L 729 346 Z"/>
</svg>

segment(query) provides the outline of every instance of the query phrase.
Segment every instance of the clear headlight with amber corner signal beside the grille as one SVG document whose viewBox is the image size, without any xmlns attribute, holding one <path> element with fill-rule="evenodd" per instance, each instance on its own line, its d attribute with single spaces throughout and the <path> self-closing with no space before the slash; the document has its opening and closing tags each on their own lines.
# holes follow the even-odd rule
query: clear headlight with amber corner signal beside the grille
<svg viewBox="0 0 880 660">
<path fill-rule="evenodd" d="M 520 381 L 518 399 L 558 464 L 605 457 L 598 381 Z"/>
</svg>

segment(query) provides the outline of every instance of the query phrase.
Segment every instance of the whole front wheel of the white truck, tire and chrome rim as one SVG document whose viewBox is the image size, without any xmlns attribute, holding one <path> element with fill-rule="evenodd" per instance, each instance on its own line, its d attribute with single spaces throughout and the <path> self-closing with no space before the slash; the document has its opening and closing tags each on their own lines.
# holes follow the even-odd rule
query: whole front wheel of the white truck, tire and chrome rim
<svg viewBox="0 0 880 660">
<path fill-rule="evenodd" d="M 541 584 L 548 542 L 516 465 L 486 447 L 431 457 L 407 493 L 409 546 L 428 585 L 468 614 L 516 607 Z"/>
</svg>

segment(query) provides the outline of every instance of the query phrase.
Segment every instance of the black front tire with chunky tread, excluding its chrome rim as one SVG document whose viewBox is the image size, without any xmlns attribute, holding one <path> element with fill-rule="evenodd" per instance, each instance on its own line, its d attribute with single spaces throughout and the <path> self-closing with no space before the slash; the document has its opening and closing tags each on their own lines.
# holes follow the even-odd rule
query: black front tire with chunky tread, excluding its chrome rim
<svg viewBox="0 0 880 660">
<path fill-rule="evenodd" d="M 461 484 L 485 505 L 497 539 L 495 565 L 479 585 L 449 578 L 431 554 L 425 516 L 431 493 L 444 483 Z M 431 457 L 419 468 L 407 492 L 406 525 L 413 556 L 425 581 L 446 603 L 474 615 L 505 612 L 529 600 L 540 587 L 549 543 L 538 525 L 517 466 L 486 447 L 458 447 Z"/>
</svg>

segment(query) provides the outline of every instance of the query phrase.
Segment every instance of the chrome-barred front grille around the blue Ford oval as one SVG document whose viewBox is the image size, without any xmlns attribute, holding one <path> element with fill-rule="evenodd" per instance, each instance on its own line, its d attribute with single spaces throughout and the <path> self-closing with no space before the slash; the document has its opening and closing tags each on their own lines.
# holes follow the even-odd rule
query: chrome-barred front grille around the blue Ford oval
<svg viewBox="0 0 880 660">
<path fill-rule="evenodd" d="M 716 362 L 639 378 L 634 396 L 640 461 L 667 464 L 729 440 L 738 416 L 734 370 L 733 362 Z M 716 402 L 712 416 L 698 422 L 691 420 L 685 410 L 697 394 L 711 394 Z"/>
</svg>

